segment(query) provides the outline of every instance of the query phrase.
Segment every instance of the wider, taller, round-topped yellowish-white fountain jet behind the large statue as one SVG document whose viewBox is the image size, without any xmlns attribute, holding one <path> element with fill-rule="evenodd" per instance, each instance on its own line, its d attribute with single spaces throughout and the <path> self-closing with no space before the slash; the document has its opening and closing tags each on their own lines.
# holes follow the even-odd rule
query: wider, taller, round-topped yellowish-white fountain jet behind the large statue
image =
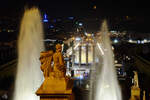
<svg viewBox="0 0 150 100">
<path fill-rule="evenodd" d="M 18 67 L 13 100 L 38 100 L 42 83 L 40 52 L 44 50 L 43 27 L 37 8 L 25 11 L 18 40 Z"/>
</svg>

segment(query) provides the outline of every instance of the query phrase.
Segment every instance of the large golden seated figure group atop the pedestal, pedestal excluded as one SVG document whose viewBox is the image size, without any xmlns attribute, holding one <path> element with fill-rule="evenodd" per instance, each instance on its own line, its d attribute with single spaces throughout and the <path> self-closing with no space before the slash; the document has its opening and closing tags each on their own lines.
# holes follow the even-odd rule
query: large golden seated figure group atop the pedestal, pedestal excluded
<svg viewBox="0 0 150 100">
<path fill-rule="evenodd" d="M 61 53 L 61 50 L 62 50 L 61 45 L 57 44 L 55 53 L 53 53 L 52 50 L 40 53 L 41 70 L 45 78 L 65 77 L 66 67 L 64 65 L 64 58 Z M 54 63 L 53 66 L 52 61 Z"/>
</svg>

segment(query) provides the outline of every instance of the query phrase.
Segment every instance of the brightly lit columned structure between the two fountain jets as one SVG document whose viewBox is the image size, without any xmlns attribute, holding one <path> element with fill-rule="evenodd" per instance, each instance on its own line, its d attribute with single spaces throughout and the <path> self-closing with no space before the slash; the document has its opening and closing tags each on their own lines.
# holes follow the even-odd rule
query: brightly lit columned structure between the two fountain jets
<svg viewBox="0 0 150 100">
<path fill-rule="evenodd" d="M 86 33 L 87 34 L 87 33 Z M 95 62 L 95 46 L 92 35 L 85 37 L 76 36 L 72 38 L 73 46 L 67 50 L 67 56 L 72 57 L 72 77 L 77 79 L 89 78 L 92 63 Z"/>
</svg>

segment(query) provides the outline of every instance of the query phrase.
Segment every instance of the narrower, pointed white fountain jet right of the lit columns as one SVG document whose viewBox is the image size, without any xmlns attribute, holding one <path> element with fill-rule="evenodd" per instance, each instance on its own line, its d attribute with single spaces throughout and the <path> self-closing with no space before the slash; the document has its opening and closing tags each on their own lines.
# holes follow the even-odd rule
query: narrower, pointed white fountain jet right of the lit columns
<svg viewBox="0 0 150 100">
<path fill-rule="evenodd" d="M 107 22 L 104 21 L 97 34 L 96 55 L 99 63 L 95 67 L 97 82 L 94 100 L 122 100 L 108 33 Z"/>
</svg>

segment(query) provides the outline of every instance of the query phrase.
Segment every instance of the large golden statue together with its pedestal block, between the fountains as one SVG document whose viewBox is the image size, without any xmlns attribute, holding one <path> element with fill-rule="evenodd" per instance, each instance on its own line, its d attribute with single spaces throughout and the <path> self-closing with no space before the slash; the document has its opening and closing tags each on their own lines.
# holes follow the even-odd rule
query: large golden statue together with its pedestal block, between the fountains
<svg viewBox="0 0 150 100">
<path fill-rule="evenodd" d="M 73 79 L 66 76 L 65 62 L 61 51 L 62 46 L 57 44 L 55 53 L 53 51 L 41 52 L 41 70 L 45 80 L 36 92 L 37 95 L 72 94 Z"/>
</svg>

